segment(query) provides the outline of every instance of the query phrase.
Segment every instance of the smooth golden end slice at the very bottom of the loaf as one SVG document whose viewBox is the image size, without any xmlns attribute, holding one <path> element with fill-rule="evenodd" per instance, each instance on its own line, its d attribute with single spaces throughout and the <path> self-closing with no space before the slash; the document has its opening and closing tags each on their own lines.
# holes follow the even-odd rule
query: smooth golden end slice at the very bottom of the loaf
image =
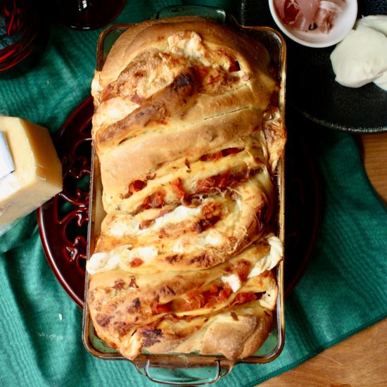
<svg viewBox="0 0 387 387">
<path fill-rule="evenodd" d="M 221 353 L 229 360 L 255 353 L 272 331 L 272 311 L 258 301 L 231 307 L 214 315 L 196 317 L 189 322 L 158 325 L 154 343 L 146 347 L 153 353 Z M 135 334 L 141 341 L 141 334 Z M 144 340 L 144 339 L 143 339 Z"/>
</svg>

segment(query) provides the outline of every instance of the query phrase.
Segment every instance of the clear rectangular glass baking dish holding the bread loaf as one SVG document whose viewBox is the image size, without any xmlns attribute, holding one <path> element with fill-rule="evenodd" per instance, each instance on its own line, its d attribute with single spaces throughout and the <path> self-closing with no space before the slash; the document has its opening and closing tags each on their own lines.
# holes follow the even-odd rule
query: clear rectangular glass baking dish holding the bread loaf
<svg viewBox="0 0 387 387">
<path fill-rule="evenodd" d="M 228 15 L 220 8 L 207 6 L 172 6 L 163 8 L 151 16 L 154 18 L 167 18 L 177 15 L 201 15 L 217 20 L 220 23 L 233 25 L 236 29 L 257 39 L 265 44 L 272 58 L 272 65 L 277 69 L 277 80 L 280 86 L 277 101 L 272 104 L 278 107 L 278 114 L 284 124 L 284 103 L 285 103 L 285 63 L 286 47 L 281 35 L 269 27 L 244 27 L 236 22 L 232 15 Z M 105 63 L 106 56 L 114 42 L 132 25 L 118 24 L 111 25 L 104 30 L 97 44 L 96 69 L 101 70 Z M 274 120 L 270 117 L 267 120 Z M 89 230 L 88 230 L 88 251 L 87 258 L 94 252 L 94 243 L 99 236 L 100 225 L 105 212 L 103 211 L 101 193 L 101 176 L 99 163 L 92 149 L 91 155 L 91 190 L 89 201 Z M 281 157 L 277 166 L 277 173 L 274 177 L 274 184 L 277 187 L 277 236 L 284 241 L 284 156 Z M 277 298 L 277 310 L 274 313 L 272 333 L 269 335 L 261 348 L 250 357 L 243 360 L 230 361 L 222 355 L 198 355 L 195 353 L 177 354 L 153 354 L 143 350 L 133 363 L 137 370 L 152 381 L 168 383 L 172 385 L 202 385 L 213 383 L 220 377 L 227 375 L 237 363 L 266 363 L 271 362 L 281 353 L 284 347 L 284 260 L 277 265 L 277 282 L 279 294 Z M 85 297 L 87 300 L 87 289 L 89 286 L 89 275 L 86 273 Z M 101 341 L 91 322 L 87 302 L 84 304 L 82 339 L 85 348 L 92 355 L 103 360 L 126 360 L 118 351 L 110 348 Z M 127 360 L 129 361 L 129 360 Z"/>
</svg>

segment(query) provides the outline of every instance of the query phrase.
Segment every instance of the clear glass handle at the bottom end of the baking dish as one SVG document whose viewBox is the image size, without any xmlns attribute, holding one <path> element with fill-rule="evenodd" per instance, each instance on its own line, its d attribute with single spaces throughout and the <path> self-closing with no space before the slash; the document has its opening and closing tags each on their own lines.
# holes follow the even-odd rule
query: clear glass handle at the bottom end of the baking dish
<svg viewBox="0 0 387 387">
<path fill-rule="evenodd" d="M 234 362 L 215 360 L 195 366 L 184 362 L 182 357 L 180 357 L 180 360 L 183 360 L 182 364 L 174 364 L 173 367 L 171 367 L 171 364 L 152 364 L 151 360 L 146 360 L 143 366 L 136 364 L 136 362 L 134 362 L 134 365 L 141 374 L 147 376 L 151 381 L 172 386 L 201 386 L 215 383 L 215 381 L 229 374 L 234 365 Z"/>
</svg>

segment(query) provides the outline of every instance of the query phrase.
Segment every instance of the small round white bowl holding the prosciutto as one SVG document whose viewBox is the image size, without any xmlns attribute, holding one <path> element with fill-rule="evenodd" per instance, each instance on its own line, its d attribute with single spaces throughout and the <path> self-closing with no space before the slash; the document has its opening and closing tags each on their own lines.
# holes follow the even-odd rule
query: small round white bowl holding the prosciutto
<svg viewBox="0 0 387 387">
<path fill-rule="evenodd" d="M 334 20 L 332 20 L 331 30 L 327 34 L 324 34 L 317 29 L 305 32 L 296 30 L 284 24 L 281 18 L 279 18 L 277 9 L 274 6 L 274 0 L 269 0 L 269 8 L 275 23 L 277 23 L 279 29 L 284 32 L 287 37 L 304 46 L 318 48 L 333 46 L 334 44 L 341 42 L 350 30 L 352 30 L 357 17 L 357 1 L 346 0 L 345 6 L 341 12 L 338 12 L 334 17 Z"/>
</svg>

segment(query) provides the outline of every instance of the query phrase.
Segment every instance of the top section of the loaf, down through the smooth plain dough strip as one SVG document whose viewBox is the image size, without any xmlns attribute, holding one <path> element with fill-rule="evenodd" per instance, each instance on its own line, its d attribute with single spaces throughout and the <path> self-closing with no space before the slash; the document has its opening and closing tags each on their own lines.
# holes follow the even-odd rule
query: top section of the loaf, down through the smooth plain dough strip
<svg viewBox="0 0 387 387">
<path fill-rule="evenodd" d="M 118 42 L 99 75 L 123 70 L 93 94 L 106 207 L 160 163 L 201 156 L 262 127 L 275 86 L 267 51 L 224 25 L 189 20 L 135 26 L 141 34 L 122 35 L 125 53 Z"/>
</svg>

